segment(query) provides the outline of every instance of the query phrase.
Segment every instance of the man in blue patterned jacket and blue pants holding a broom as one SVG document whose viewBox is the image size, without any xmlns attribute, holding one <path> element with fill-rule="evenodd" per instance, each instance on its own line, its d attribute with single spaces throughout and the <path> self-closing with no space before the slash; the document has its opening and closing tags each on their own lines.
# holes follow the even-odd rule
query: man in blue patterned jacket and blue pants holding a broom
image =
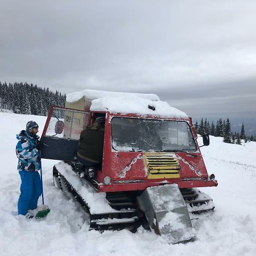
<svg viewBox="0 0 256 256">
<path fill-rule="evenodd" d="M 20 196 L 18 200 L 18 214 L 33 218 L 34 214 L 28 210 L 38 207 L 38 199 L 42 194 L 42 184 L 38 170 L 40 170 L 38 124 L 29 121 L 26 131 L 22 130 L 16 135 L 19 140 L 16 144 L 18 171 L 21 179 Z"/>
</svg>

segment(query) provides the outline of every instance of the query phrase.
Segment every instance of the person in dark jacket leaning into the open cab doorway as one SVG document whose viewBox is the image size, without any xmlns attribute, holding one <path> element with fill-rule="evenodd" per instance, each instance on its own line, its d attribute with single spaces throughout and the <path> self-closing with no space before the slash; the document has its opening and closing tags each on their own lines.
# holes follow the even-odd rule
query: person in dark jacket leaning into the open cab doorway
<svg viewBox="0 0 256 256">
<path fill-rule="evenodd" d="M 103 155 L 104 129 L 105 118 L 97 117 L 94 123 L 87 126 L 80 134 L 79 149 L 76 157 L 85 168 L 100 167 Z M 94 174 L 90 176 L 92 177 Z"/>
</svg>

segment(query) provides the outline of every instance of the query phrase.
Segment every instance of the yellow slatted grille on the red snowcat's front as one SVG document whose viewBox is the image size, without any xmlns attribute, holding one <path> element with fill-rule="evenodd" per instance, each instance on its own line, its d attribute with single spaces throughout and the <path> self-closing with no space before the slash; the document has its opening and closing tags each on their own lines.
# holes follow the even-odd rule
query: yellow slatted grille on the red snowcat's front
<svg viewBox="0 0 256 256">
<path fill-rule="evenodd" d="M 180 165 L 175 154 L 147 152 L 144 154 L 148 179 L 168 179 L 180 177 Z"/>
</svg>

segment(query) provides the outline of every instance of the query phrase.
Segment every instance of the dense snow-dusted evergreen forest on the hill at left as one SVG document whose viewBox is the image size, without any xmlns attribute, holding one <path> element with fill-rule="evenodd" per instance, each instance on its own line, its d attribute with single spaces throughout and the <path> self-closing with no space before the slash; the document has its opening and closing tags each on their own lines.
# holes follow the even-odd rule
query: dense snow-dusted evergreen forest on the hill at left
<svg viewBox="0 0 256 256">
<path fill-rule="evenodd" d="M 0 108 L 16 114 L 47 115 L 50 106 L 64 106 L 66 96 L 34 84 L 0 81 Z"/>
</svg>

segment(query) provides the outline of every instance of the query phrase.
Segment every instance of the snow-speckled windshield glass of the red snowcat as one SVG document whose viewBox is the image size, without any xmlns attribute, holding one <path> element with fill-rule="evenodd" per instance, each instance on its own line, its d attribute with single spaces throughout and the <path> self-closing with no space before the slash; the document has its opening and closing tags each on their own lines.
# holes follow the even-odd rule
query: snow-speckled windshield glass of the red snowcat
<svg viewBox="0 0 256 256">
<path fill-rule="evenodd" d="M 187 122 L 113 117 L 112 146 L 118 151 L 196 151 Z"/>
</svg>

